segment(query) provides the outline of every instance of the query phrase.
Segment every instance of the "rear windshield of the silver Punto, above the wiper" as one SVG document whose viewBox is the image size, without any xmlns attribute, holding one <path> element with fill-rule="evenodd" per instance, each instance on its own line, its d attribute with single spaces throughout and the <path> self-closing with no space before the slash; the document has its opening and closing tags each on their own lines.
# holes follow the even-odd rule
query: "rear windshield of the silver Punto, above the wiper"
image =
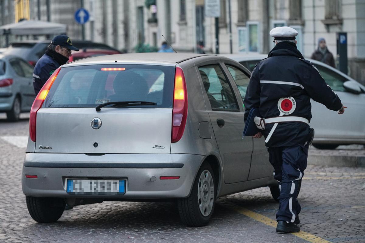
<svg viewBox="0 0 365 243">
<path fill-rule="evenodd" d="M 111 68 L 123 71 L 109 71 Z M 175 67 L 154 65 L 89 65 L 61 68 L 44 108 L 96 107 L 110 101 L 148 101 L 172 108 Z"/>
</svg>

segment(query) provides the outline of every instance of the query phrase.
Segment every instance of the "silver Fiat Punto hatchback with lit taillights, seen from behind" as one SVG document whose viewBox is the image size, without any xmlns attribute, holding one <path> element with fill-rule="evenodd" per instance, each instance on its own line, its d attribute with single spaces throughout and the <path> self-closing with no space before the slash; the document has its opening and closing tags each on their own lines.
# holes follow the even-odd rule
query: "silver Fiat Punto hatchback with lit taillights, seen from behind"
<svg viewBox="0 0 365 243">
<path fill-rule="evenodd" d="M 220 196 L 280 193 L 264 138 L 242 137 L 250 72 L 222 56 L 86 58 L 58 68 L 35 99 L 22 188 L 37 222 L 70 206 L 176 200 L 188 226 Z"/>
</svg>

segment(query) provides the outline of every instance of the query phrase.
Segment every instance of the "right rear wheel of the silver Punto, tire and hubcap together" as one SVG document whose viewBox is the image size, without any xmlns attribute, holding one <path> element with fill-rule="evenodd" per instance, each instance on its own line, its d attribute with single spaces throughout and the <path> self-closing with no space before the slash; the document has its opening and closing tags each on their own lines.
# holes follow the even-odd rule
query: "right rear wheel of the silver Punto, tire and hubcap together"
<svg viewBox="0 0 365 243">
<path fill-rule="evenodd" d="M 215 199 L 214 173 L 211 166 L 204 162 L 197 173 L 190 196 L 177 200 L 181 221 L 192 227 L 207 225 L 214 212 Z"/>
</svg>

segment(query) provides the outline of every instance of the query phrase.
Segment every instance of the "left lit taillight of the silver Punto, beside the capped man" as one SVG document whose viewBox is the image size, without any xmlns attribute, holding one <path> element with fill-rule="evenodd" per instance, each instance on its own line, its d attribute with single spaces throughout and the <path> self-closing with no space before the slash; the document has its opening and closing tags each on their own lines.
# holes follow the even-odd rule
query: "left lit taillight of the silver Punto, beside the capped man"
<svg viewBox="0 0 365 243">
<path fill-rule="evenodd" d="M 37 123 L 37 111 L 43 105 L 43 102 L 45 101 L 47 94 L 48 94 L 51 86 L 53 85 L 53 82 L 56 79 L 59 70 L 61 70 L 61 68 L 57 68 L 57 70 L 53 72 L 51 77 L 49 77 L 47 82 L 43 85 L 41 91 L 39 91 L 37 97 L 35 97 L 32 108 L 30 110 L 29 135 L 30 135 L 30 139 L 33 142 L 35 142 L 35 125 Z"/>
</svg>

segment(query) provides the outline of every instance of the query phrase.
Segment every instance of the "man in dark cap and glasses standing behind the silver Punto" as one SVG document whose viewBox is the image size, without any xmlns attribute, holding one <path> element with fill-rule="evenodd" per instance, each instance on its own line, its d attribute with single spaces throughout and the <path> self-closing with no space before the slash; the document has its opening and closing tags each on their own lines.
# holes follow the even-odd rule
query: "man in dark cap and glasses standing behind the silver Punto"
<svg viewBox="0 0 365 243">
<path fill-rule="evenodd" d="M 79 49 L 72 45 L 72 41 L 67 35 L 57 35 L 53 38 L 33 70 L 33 87 L 36 95 L 53 72 L 68 61 L 72 50 L 78 51 Z"/>
</svg>

